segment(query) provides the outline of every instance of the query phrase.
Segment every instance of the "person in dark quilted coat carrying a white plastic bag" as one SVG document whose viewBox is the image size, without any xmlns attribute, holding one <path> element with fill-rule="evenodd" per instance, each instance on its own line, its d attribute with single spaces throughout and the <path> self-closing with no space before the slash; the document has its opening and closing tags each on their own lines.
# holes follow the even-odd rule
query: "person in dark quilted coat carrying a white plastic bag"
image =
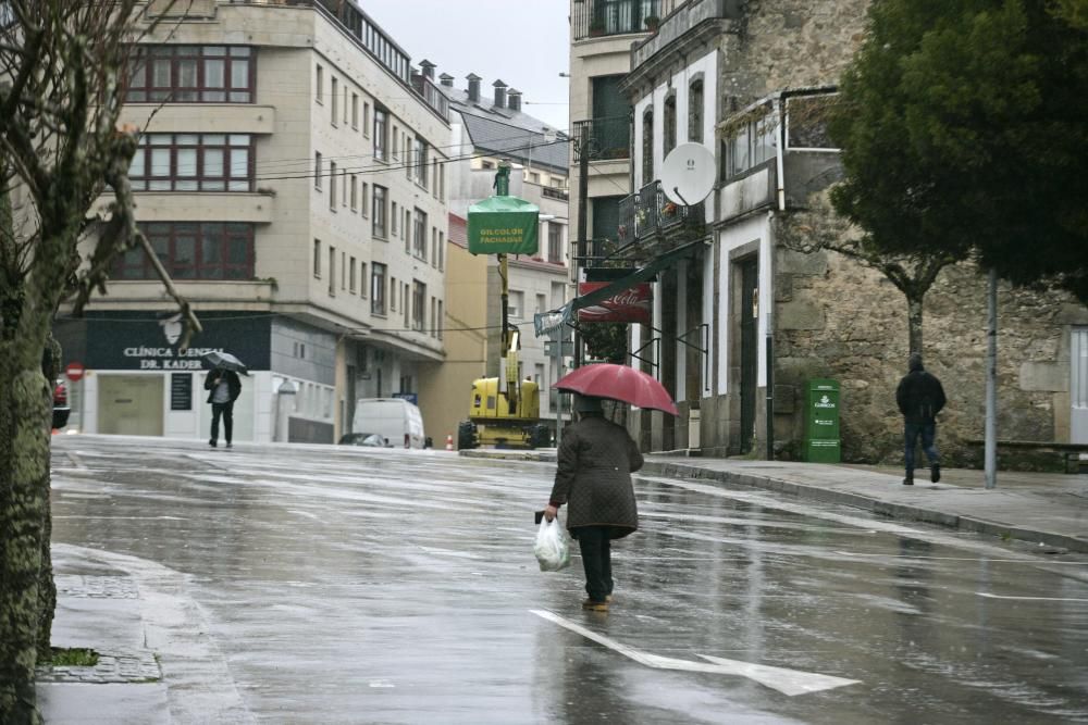
<svg viewBox="0 0 1088 725">
<path fill-rule="evenodd" d="M 568 504 L 567 528 L 578 539 L 585 570 L 583 609 L 608 610 L 611 600 L 611 540 L 639 527 L 631 472 L 642 453 L 627 429 L 604 417 L 598 398 L 578 396 L 578 423 L 562 432 L 555 485 L 544 517 Z"/>
</svg>

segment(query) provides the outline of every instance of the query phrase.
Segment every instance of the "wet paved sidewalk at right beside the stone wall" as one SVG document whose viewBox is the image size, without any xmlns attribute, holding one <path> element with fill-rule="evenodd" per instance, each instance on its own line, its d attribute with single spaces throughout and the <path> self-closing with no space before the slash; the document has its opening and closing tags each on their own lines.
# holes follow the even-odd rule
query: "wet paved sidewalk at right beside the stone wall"
<svg viewBox="0 0 1088 725">
<path fill-rule="evenodd" d="M 461 455 L 555 461 L 555 449 L 471 450 Z M 919 470 L 914 486 L 891 467 L 647 455 L 641 473 L 719 480 L 839 503 L 901 521 L 1042 543 L 1088 553 L 1088 475 L 998 472 L 985 488 L 981 471 L 943 468 L 931 484 Z"/>
</svg>

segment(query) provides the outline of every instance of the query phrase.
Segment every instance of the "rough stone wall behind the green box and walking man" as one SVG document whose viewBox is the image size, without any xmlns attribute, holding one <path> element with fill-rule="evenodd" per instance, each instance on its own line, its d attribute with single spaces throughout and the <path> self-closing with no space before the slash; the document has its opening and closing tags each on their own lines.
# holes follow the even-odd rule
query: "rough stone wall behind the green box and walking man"
<svg viewBox="0 0 1088 725">
<path fill-rule="evenodd" d="M 789 215 L 783 225 L 791 223 Z M 970 263 L 945 267 L 925 299 L 924 359 L 949 402 L 938 443 L 950 464 L 977 463 L 986 389 L 987 278 Z M 999 286 L 998 436 L 1068 440 L 1070 328 L 1088 309 L 1067 295 Z M 777 392 L 795 396 L 779 420 L 800 457 L 801 396 L 811 377 L 840 380 L 844 461 L 898 463 L 902 422 L 895 386 L 906 373 L 906 299 L 883 275 L 836 252 L 779 248 L 776 270 Z M 783 416 L 779 416 L 780 418 Z"/>
</svg>

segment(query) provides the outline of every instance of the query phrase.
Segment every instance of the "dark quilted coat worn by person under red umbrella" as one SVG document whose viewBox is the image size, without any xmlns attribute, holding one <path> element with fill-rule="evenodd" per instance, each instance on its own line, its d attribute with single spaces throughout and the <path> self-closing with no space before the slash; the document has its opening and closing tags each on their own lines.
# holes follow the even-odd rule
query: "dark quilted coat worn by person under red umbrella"
<svg viewBox="0 0 1088 725">
<path fill-rule="evenodd" d="M 613 538 L 627 536 L 639 527 L 631 472 L 641 467 L 642 453 L 622 426 L 582 418 L 564 428 L 551 501 L 568 505 L 569 529 L 616 526 Z"/>
</svg>

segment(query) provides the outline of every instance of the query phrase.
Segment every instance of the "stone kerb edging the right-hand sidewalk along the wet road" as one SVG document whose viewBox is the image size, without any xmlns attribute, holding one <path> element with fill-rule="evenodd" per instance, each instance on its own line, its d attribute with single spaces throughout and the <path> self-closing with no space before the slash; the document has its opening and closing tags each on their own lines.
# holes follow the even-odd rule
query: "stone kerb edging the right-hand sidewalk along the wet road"
<svg viewBox="0 0 1088 725">
<path fill-rule="evenodd" d="M 485 458 L 499 460 L 554 462 L 554 453 L 524 453 L 504 451 L 460 451 L 466 458 Z M 837 491 L 808 484 L 799 484 L 792 480 L 783 480 L 766 475 L 754 475 L 751 473 L 735 473 L 732 471 L 714 471 L 703 468 L 697 465 L 672 463 L 663 461 L 646 461 L 641 473 L 650 473 L 658 476 L 672 476 L 676 478 L 702 478 L 704 480 L 718 480 L 728 484 L 739 484 L 751 488 L 762 488 L 765 490 L 781 491 L 790 496 L 819 501 L 823 503 L 836 503 L 855 509 L 871 511 L 873 513 L 895 518 L 899 521 L 917 521 L 925 524 L 945 526 L 962 532 L 975 534 L 986 534 L 996 537 L 1012 537 L 1022 541 L 1041 542 L 1047 546 L 1061 547 L 1070 551 L 1088 553 L 1088 539 L 1068 534 L 1055 532 L 1043 532 L 1038 528 L 1027 528 L 1016 524 L 1009 524 L 999 521 L 989 521 L 978 516 L 962 516 L 942 511 L 935 511 L 918 505 L 903 503 L 890 503 L 880 499 L 851 491 Z"/>
</svg>

